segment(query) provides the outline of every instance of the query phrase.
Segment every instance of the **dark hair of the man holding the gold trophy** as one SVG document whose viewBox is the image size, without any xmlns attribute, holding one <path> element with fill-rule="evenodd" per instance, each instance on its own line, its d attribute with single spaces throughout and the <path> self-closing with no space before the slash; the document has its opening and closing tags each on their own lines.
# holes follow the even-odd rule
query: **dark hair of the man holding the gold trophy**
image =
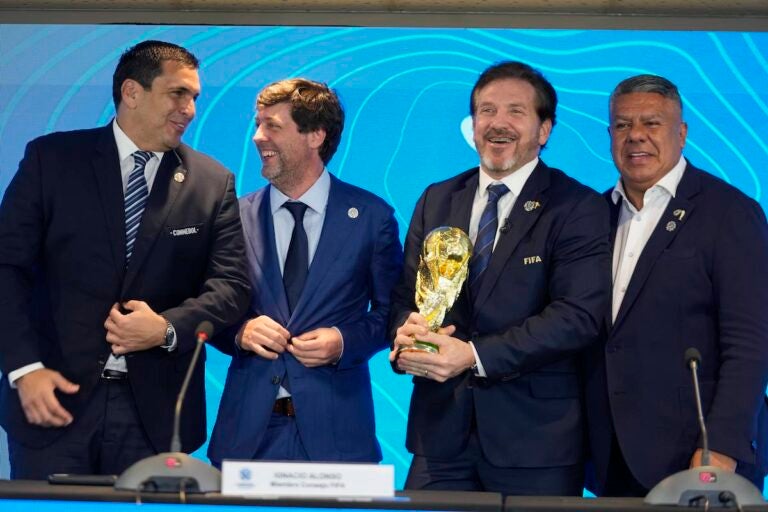
<svg viewBox="0 0 768 512">
<path fill-rule="evenodd" d="M 533 69 L 528 64 L 515 61 L 498 62 L 483 71 L 472 88 L 472 96 L 469 98 L 470 114 L 474 117 L 475 99 L 481 89 L 491 82 L 507 78 L 523 80 L 531 84 L 536 92 L 536 114 L 538 114 L 539 120 L 545 121 L 549 119 L 552 121 L 552 126 L 555 126 L 555 110 L 557 109 L 557 93 L 555 88 L 539 71 Z"/>
</svg>

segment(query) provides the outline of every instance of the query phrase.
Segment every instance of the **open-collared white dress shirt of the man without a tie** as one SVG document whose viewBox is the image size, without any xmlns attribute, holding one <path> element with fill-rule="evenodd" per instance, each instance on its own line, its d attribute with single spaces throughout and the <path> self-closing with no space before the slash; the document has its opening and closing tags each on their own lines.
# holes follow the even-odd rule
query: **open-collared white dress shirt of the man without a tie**
<svg viewBox="0 0 768 512">
<path fill-rule="evenodd" d="M 638 210 L 627 199 L 624 184 L 619 178 L 611 192 L 611 199 L 616 204 L 621 201 L 621 210 L 613 245 L 613 301 L 611 319 L 616 321 L 621 302 L 637 266 L 637 260 L 651 238 L 659 219 L 667 209 L 669 201 L 675 197 L 677 186 L 685 171 L 685 158 L 664 175 L 655 185 L 645 191 L 643 207 Z"/>
</svg>

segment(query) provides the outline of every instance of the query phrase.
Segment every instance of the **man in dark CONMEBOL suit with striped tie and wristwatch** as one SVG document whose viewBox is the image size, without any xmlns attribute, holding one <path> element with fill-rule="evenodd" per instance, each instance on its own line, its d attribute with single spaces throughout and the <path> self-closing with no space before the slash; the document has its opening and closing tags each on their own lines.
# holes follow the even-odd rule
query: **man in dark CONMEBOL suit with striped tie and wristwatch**
<svg viewBox="0 0 768 512">
<path fill-rule="evenodd" d="M 108 126 L 29 143 L 0 207 L 0 420 L 11 477 L 120 473 L 166 451 L 194 329 L 248 303 L 233 176 L 181 144 L 200 93 L 187 50 L 146 41 Z M 181 420 L 206 436 L 204 369 Z"/>
</svg>

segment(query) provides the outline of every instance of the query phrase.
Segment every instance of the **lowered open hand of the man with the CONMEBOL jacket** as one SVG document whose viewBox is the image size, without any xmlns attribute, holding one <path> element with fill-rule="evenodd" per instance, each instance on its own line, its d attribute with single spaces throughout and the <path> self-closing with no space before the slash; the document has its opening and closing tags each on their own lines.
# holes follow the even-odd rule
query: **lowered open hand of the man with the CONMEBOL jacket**
<svg viewBox="0 0 768 512">
<path fill-rule="evenodd" d="M 77 393 L 80 386 L 59 372 L 47 368 L 35 370 L 20 377 L 16 388 L 28 422 L 41 427 L 66 427 L 72 423 L 72 415 L 61 406 L 54 390 L 71 395 Z"/>
</svg>

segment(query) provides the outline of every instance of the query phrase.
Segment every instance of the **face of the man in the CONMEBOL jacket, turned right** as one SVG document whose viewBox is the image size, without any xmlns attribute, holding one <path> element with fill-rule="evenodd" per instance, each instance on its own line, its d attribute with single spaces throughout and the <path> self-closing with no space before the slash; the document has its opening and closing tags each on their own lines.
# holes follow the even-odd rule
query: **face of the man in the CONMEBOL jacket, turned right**
<svg viewBox="0 0 768 512">
<path fill-rule="evenodd" d="M 195 100 L 200 95 L 196 69 L 175 61 L 164 61 L 162 69 L 149 89 L 132 79 L 121 87 L 117 122 L 144 151 L 178 147 L 195 117 Z"/>
</svg>

